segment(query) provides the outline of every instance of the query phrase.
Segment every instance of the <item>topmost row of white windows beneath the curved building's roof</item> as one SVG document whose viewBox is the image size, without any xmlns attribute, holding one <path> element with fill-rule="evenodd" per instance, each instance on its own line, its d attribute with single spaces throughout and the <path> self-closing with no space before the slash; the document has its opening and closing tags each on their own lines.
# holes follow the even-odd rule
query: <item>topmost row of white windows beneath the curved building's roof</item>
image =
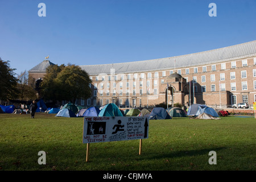
<svg viewBox="0 0 256 182">
<path fill-rule="evenodd" d="M 227 63 L 221 63 L 221 70 L 226 69 L 226 64 Z M 237 62 L 233 61 L 230 63 L 231 64 L 231 68 L 236 68 L 237 67 Z M 247 60 L 242 60 L 242 67 L 247 67 Z M 254 58 L 254 65 L 256 65 L 256 58 Z M 191 68 L 186 68 L 185 69 L 185 75 L 188 75 L 190 73 L 190 69 Z M 192 68 L 193 69 L 193 73 L 198 73 L 198 67 Z M 210 71 L 216 71 L 216 64 L 214 65 L 210 65 Z M 202 71 L 203 72 L 207 72 L 207 66 L 203 66 L 202 67 Z M 170 75 L 174 73 L 173 70 L 170 71 Z M 177 69 L 177 73 L 179 73 L 181 75 L 181 69 Z M 138 73 L 134 73 L 134 74 L 128 74 L 127 75 L 127 80 L 132 79 L 131 76 L 133 75 L 134 79 L 139 78 L 139 74 Z M 140 78 L 145 78 L 145 75 L 147 75 L 147 78 L 152 78 L 152 73 L 141 73 Z M 162 71 L 162 77 L 166 76 L 166 71 Z M 108 78 L 108 80 L 118 80 L 118 75 L 113 75 L 113 76 L 101 76 L 101 81 L 105 81 L 105 77 Z M 154 77 L 159 77 L 159 72 L 155 72 L 154 73 Z M 93 77 L 90 76 L 90 79 L 92 80 Z M 99 76 L 96 76 L 95 80 L 99 81 Z M 120 75 L 120 80 L 125 80 L 125 75 Z"/>
</svg>

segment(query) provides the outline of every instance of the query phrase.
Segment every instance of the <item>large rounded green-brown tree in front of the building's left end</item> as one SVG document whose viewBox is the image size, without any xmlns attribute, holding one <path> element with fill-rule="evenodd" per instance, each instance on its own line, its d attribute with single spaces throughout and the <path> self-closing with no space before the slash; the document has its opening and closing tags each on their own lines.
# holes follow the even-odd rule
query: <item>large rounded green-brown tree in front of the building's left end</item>
<svg viewBox="0 0 256 182">
<path fill-rule="evenodd" d="M 51 65 L 41 85 L 42 94 L 48 100 L 75 102 L 76 98 L 89 98 L 90 78 L 76 65 Z"/>
</svg>

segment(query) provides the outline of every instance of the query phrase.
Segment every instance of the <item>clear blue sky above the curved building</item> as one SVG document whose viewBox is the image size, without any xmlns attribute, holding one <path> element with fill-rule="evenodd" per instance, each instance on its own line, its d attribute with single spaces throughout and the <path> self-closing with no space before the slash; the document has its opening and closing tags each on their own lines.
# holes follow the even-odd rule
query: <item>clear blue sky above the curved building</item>
<svg viewBox="0 0 256 182">
<path fill-rule="evenodd" d="M 20 74 L 48 55 L 90 65 L 208 51 L 256 40 L 255 10 L 255 0 L 0 0 L 0 57 Z"/>
</svg>

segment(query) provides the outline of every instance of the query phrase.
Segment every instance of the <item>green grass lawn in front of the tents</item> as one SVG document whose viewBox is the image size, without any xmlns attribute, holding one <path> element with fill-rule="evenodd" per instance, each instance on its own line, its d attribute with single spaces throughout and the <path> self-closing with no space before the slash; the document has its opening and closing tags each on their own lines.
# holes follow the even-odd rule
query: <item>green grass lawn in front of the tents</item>
<svg viewBox="0 0 256 182">
<path fill-rule="evenodd" d="M 149 123 L 148 139 L 82 143 L 83 118 L 0 114 L 0 171 L 254 171 L 256 119 L 174 118 Z M 39 151 L 46 165 L 39 165 Z M 217 164 L 210 165 L 209 152 Z"/>
</svg>

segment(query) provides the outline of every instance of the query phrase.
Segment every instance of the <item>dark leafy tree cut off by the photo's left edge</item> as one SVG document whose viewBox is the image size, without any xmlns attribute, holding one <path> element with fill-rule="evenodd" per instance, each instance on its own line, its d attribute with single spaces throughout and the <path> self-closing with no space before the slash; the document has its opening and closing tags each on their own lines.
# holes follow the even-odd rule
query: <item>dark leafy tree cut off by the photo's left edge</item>
<svg viewBox="0 0 256 182">
<path fill-rule="evenodd" d="M 10 68 L 9 61 L 3 61 L 0 57 L 0 100 L 16 98 L 18 79 L 14 76 L 15 69 Z"/>
</svg>

